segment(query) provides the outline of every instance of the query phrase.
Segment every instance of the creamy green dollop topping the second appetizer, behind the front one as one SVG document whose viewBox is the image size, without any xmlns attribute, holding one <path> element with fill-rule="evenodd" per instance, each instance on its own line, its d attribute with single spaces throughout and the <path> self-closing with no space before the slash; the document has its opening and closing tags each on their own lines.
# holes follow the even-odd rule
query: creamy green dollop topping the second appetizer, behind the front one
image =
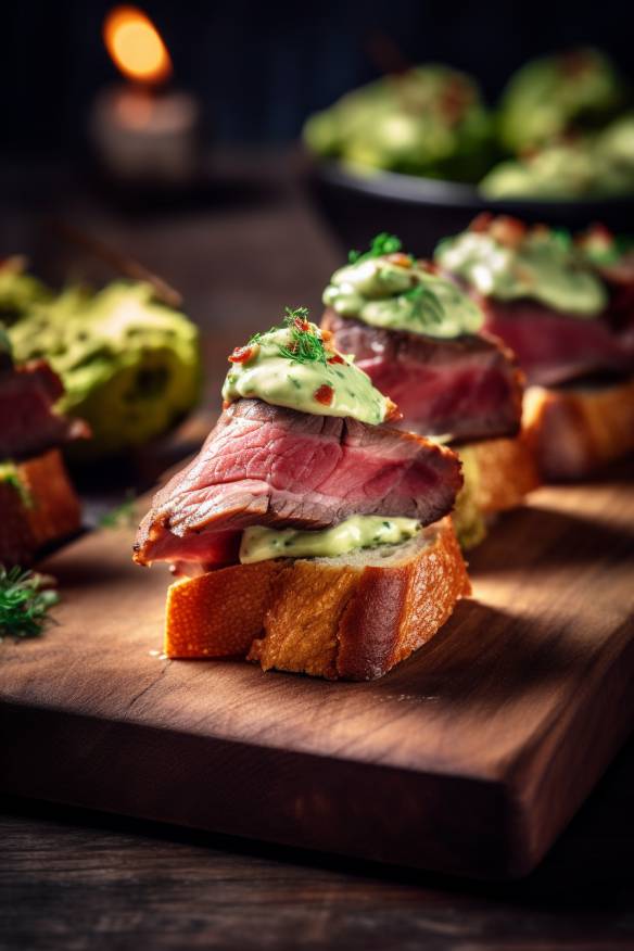
<svg viewBox="0 0 634 951">
<path fill-rule="evenodd" d="M 427 337 L 477 333 L 482 313 L 452 281 L 429 274 L 404 254 L 365 257 L 337 270 L 324 303 L 341 317 L 372 327 L 406 330 Z"/>
</svg>

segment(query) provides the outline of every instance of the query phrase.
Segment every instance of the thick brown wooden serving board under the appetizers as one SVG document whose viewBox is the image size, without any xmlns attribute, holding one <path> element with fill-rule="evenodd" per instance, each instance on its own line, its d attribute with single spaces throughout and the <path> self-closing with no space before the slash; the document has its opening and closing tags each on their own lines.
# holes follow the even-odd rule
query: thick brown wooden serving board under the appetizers
<svg viewBox="0 0 634 951">
<path fill-rule="evenodd" d="M 545 489 L 474 599 L 368 684 L 168 661 L 131 533 L 47 566 L 59 626 L 0 645 L 3 790 L 473 876 L 532 868 L 634 722 L 632 468 Z M 154 654 L 152 654 L 154 651 Z"/>
</svg>

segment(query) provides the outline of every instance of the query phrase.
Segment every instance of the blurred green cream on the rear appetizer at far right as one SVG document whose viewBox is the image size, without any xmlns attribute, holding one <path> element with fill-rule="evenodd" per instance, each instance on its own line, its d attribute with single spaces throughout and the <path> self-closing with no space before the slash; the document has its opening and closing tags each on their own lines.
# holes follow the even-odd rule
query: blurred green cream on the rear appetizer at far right
<svg viewBox="0 0 634 951">
<path fill-rule="evenodd" d="M 576 317 L 594 317 L 607 293 L 574 252 L 567 234 L 532 228 L 519 243 L 489 232 L 465 231 L 441 241 L 435 261 L 485 296 L 530 299 Z"/>
</svg>

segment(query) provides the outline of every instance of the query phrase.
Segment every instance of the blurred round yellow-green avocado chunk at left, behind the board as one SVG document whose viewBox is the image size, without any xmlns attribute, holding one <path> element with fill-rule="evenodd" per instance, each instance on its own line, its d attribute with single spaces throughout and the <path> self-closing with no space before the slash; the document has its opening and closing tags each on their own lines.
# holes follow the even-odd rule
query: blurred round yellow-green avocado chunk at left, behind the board
<svg viewBox="0 0 634 951">
<path fill-rule="evenodd" d="M 17 362 L 46 358 L 65 394 L 59 408 L 85 419 L 92 439 L 74 448 L 99 457 L 169 430 L 199 398 L 199 334 L 145 283 L 98 293 L 71 287 L 9 330 Z"/>
</svg>

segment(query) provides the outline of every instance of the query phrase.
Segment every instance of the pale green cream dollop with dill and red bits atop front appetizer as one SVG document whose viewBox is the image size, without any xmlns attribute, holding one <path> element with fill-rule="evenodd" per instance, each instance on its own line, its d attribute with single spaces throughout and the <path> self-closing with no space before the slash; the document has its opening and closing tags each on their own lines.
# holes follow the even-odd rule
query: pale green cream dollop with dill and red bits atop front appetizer
<svg viewBox="0 0 634 951">
<path fill-rule="evenodd" d="M 304 307 L 288 312 L 286 326 L 255 334 L 233 351 L 223 386 L 225 402 L 252 397 L 316 416 L 384 422 L 391 401 L 355 367 L 353 357 L 330 348 L 306 314 Z"/>
</svg>

